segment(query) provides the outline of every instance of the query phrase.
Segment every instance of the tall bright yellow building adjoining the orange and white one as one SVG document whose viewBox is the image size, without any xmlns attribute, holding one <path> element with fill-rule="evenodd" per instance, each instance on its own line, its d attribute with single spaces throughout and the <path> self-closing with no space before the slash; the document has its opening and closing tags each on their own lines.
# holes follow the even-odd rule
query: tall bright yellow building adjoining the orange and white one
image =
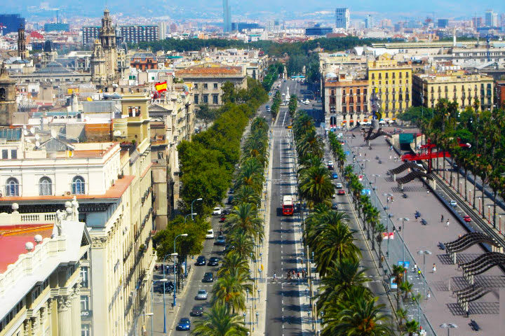
<svg viewBox="0 0 505 336">
<path fill-rule="evenodd" d="M 395 118 L 412 106 L 412 64 L 383 54 L 368 62 L 369 91 L 379 90 L 382 118 Z"/>
</svg>

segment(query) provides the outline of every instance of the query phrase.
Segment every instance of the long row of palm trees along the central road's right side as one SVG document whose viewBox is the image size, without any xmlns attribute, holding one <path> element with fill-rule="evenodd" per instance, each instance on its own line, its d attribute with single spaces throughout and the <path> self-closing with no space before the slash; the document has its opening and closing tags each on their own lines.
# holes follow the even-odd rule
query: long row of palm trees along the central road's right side
<svg viewBox="0 0 505 336">
<path fill-rule="evenodd" d="M 321 276 L 316 295 L 321 335 L 394 335 L 389 316 L 382 314 L 377 297 L 364 286 L 368 279 L 360 266 L 361 252 L 354 244 L 355 230 L 349 228 L 349 218 L 330 209 L 334 186 L 323 162 L 324 143 L 314 120 L 299 111 L 292 125 L 299 156 L 299 195 L 309 207 L 304 243 L 314 253 Z M 345 154 L 331 134 L 330 149 L 342 169 Z"/>
</svg>

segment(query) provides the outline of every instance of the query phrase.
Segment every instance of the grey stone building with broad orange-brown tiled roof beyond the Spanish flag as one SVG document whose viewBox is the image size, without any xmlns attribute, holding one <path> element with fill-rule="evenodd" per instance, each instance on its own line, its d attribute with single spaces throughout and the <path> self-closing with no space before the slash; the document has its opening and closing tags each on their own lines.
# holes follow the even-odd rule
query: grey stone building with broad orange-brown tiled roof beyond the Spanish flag
<svg viewBox="0 0 505 336">
<path fill-rule="evenodd" d="M 205 63 L 176 71 L 175 77 L 193 83 L 196 105 L 222 106 L 222 85 L 226 82 L 233 83 L 237 90 L 247 88 L 247 78 L 242 66 Z"/>
</svg>

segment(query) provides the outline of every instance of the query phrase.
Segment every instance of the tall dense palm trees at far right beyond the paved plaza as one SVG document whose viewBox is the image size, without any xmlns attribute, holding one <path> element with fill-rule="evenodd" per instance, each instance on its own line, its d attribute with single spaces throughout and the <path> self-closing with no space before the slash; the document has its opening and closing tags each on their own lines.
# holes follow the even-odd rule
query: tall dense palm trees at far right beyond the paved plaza
<svg viewBox="0 0 505 336">
<path fill-rule="evenodd" d="M 484 187 L 490 187 L 493 194 L 492 222 L 496 227 L 497 196 L 505 198 L 505 111 L 478 111 L 475 107 L 467 106 L 460 111 L 457 103 L 440 99 L 433 111 L 433 118 L 420 120 L 419 126 L 438 151 L 450 153 L 450 169 L 446 169 L 446 160 L 442 158 L 436 159 L 436 167 L 439 167 L 439 160 L 443 160 L 443 179 L 454 186 L 457 193 L 464 194 L 464 200 L 471 202 L 474 209 L 478 206 L 476 179 L 473 179 L 473 190 L 468 190 L 467 183 L 459 183 L 460 169 L 465 181 L 467 173 L 471 172 L 473 176 L 480 176 Z M 466 143 L 471 144 L 471 147 L 460 146 Z M 480 188 L 480 196 L 484 197 L 484 188 Z M 483 218 L 485 212 L 482 211 Z"/>
</svg>

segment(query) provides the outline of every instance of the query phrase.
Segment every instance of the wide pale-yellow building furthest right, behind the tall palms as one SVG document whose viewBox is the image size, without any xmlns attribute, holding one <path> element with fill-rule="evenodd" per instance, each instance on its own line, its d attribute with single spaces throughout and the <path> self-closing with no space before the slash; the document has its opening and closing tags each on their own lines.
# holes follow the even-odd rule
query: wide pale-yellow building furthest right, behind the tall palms
<svg viewBox="0 0 505 336">
<path fill-rule="evenodd" d="M 479 110 L 492 108 L 493 78 L 464 70 L 420 73 L 412 77 L 413 99 L 416 106 L 435 107 L 439 99 L 457 102 L 459 107 L 478 104 Z"/>
</svg>

